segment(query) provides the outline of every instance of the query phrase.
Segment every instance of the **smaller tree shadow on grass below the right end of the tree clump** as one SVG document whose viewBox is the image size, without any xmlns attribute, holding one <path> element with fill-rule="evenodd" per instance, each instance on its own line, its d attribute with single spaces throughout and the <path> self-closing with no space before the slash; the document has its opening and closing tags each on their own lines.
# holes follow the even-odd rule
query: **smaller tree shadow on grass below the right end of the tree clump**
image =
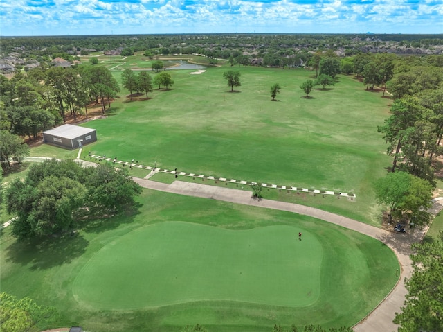
<svg viewBox="0 0 443 332">
<path fill-rule="evenodd" d="M 120 225 L 133 222 L 134 218 L 141 213 L 139 208 L 142 205 L 143 204 L 137 202 L 132 207 L 128 207 L 125 211 L 122 211 L 115 216 L 102 216 L 100 218 L 88 218 L 82 220 L 80 228 L 87 233 L 93 234 L 116 229 Z"/>
</svg>

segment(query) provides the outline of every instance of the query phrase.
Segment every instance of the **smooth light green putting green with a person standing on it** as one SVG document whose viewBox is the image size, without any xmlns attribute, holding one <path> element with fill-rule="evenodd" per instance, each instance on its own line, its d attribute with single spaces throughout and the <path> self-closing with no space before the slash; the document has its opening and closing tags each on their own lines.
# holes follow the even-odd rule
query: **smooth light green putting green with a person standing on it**
<svg viewBox="0 0 443 332">
<path fill-rule="evenodd" d="M 320 295 L 322 259 L 320 241 L 300 227 L 161 222 L 105 245 L 76 277 L 73 294 L 96 309 L 211 300 L 309 306 Z"/>
</svg>

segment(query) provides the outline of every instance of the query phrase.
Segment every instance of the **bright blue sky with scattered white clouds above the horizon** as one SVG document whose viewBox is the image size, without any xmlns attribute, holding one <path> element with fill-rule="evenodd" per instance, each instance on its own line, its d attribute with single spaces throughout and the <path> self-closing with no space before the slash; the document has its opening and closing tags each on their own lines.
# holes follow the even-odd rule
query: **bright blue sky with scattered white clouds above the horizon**
<svg viewBox="0 0 443 332">
<path fill-rule="evenodd" d="M 0 0 L 0 35 L 443 33 L 443 0 Z"/>
</svg>

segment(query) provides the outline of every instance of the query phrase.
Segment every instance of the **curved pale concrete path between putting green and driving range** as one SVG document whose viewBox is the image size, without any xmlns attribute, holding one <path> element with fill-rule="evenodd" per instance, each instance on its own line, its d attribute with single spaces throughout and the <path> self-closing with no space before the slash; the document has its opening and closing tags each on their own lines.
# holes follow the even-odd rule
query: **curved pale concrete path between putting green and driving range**
<svg viewBox="0 0 443 332">
<path fill-rule="evenodd" d="M 397 234 L 393 231 L 386 231 L 367 225 L 363 222 L 338 216 L 337 214 L 322 211 L 313 207 L 305 207 L 300 204 L 278 202 L 275 200 L 254 200 L 251 198 L 251 192 L 238 189 L 227 189 L 219 186 L 208 186 L 181 181 L 175 181 L 172 184 L 164 184 L 137 177 L 133 177 L 133 180 L 147 189 L 303 214 L 305 216 L 311 216 L 327 222 L 332 222 L 333 224 L 347 229 L 358 231 L 361 234 L 368 235 L 385 243 L 393 252 L 395 252 L 401 265 L 399 282 L 379 306 L 374 308 L 374 310 L 361 320 L 361 322 L 357 323 L 353 329 L 355 332 L 397 331 L 398 326 L 394 324 L 392 320 L 395 317 L 395 313 L 401 311 L 401 306 L 403 306 L 407 294 L 404 279 L 405 277 L 409 278 L 413 272 L 412 262 L 409 259 L 411 253 L 410 245 L 422 240 L 426 232 L 425 230 L 410 231 L 407 234 Z M 434 203 L 435 211 L 440 211 L 443 206 L 440 202 L 435 201 Z M 392 271 L 392 273 L 396 273 L 396 271 Z"/>
</svg>

